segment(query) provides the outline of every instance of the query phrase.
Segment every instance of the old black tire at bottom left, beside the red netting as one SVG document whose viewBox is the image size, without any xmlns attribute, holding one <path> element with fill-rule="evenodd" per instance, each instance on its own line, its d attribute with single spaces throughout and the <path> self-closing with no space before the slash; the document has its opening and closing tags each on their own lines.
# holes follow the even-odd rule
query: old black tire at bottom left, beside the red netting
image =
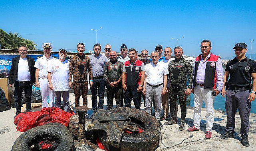
<svg viewBox="0 0 256 151">
<path fill-rule="evenodd" d="M 30 147 L 40 141 L 50 139 L 58 143 L 54 151 L 72 151 L 73 137 L 68 129 L 60 123 L 49 123 L 43 126 L 38 126 L 24 132 L 16 139 L 12 146 L 12 151 L 30 151 Z M 38 150 L 38 148 L 36 148 Z"/>
</svg>

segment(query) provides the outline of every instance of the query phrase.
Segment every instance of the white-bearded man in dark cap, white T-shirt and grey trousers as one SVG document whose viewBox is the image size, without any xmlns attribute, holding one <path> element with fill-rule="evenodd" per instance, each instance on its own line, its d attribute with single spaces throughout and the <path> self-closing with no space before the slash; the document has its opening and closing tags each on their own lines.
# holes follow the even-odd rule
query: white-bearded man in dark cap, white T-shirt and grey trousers
<svg viewBox="0 0 256 151">
<path fill-rule="evenodd" d="M 69 61 L 65 60 L 67 50 L 59 50 L 59 59 L 47 65 L 49 88 L 55 92 L 55 106 L 61 108 L 63 99 L 64 111 L 69 112 Z M 52 77 L 51 77 L 52 76 Z"/>
</svg>

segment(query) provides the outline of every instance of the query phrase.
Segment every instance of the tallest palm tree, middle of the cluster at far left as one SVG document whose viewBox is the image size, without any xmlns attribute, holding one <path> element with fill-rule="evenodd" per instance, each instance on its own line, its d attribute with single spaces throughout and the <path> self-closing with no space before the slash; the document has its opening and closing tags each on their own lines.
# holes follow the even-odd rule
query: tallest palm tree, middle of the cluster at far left
<svg viewBox="0 0 256 151">
<path fill-rule="evenodd" d="M 22 37 L 18 36 L 18 33 L 12 33 L 10 32 L 7 35 L 6 39 L 7 46 L 5 48 L 7 49 L 18 49 L 22 44 Z"/>
</svg>

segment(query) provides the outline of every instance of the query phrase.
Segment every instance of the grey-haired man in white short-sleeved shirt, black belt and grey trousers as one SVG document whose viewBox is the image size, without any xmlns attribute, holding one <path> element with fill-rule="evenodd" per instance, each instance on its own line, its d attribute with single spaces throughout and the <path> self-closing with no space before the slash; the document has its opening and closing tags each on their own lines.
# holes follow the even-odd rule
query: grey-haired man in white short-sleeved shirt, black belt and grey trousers
<svg viewBox="0 0 256 151">
<path fill-rule="evenodd" d="M 143 86 L 143 94 L 146 95 L 145 111 L 151 114 L 151 103 L 155 99 L 155 117 L 159 120 L 161 115 L 162 95 L 166 93 L 167 74 L 169 74 L 164 62 L 159 62 L 159 52 L 151 52 L 151 60 L 145 66 L 145 80 Z"/>
</svg>

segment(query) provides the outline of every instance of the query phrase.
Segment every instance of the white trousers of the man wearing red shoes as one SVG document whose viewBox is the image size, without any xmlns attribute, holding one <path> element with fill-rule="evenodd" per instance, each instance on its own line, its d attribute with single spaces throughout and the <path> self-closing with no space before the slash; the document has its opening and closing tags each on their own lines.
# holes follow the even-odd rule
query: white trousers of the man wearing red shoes
<svg viewBox="0 0 256 151">
<path fill-rule="evenodd" d="M 203 86 L 195 85 L 194 87 L 194 126 L 200 128 L 201 121 L 201 109 L 202 101 L 206 108 L 206 131 L 212 132 L 212 126 L 214 121 L 214 96 L 212 95 L 212 90 L 206 90 Z"/>
</svg>

